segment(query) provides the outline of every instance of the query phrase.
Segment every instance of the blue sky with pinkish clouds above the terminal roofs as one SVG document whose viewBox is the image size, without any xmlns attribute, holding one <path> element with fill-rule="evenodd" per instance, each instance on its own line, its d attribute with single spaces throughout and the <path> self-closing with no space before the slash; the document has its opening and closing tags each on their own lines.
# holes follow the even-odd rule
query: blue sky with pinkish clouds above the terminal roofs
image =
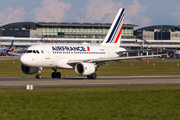
<svg viewBox="0 0 180 120">
<path fill-rule="evenodd" d="M 112 23 L 125 8 L 125 24 L 180 25 L 180 0 L 0 0 L 0 26 L 13 22 Z"/>
</svg>

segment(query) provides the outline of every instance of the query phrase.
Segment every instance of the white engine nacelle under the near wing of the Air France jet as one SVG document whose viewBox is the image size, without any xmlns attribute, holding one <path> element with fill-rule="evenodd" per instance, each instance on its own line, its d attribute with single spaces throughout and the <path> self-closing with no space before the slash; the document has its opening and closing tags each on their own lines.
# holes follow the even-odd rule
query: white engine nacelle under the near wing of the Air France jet
<svg viewBox="0 0 180 120">
<path fill-rule="evenodd" d="M 94 73 L 96 67 L 93 63 L 77 63 L 75 66 L 75 72 L 78 75 L 90 75 Z"/>
</svg>

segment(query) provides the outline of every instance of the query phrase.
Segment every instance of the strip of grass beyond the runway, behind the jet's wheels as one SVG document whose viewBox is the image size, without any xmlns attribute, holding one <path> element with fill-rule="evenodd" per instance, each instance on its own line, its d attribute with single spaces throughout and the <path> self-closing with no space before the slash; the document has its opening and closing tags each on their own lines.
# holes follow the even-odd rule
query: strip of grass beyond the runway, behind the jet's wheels
<svg viewBox="0 0 180 120">
<path fill-rule="evenodd" d="M 123 63 L 108 62 L 98 68 L 98 76 L 155 76 L 155 75 L 180 75 L 180 60 L 149 60 L 145 61 L 123 61 Z M 155 65 L 155 66 L 153 66 Z M 18 60 L 0 61 L 0 77 L 34 77 L 26 75 L 21 71 L 21 63 Z M 77 77 L 74 70 L 58 69 L 62 77 Z M 51 77 L 53 72 L 50 68 L 42 71 L 43 77 Z"/>
</svg>

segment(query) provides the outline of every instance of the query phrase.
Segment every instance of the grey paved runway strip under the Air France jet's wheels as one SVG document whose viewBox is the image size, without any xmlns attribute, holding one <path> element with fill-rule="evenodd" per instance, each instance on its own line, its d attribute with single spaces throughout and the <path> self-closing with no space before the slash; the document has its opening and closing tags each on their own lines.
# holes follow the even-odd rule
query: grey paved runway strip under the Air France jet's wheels
<svg viewBox="0 0 180 120">
<path fill-rule="evenodd" d="M 105 86 L 105 85 L 166 85 L 180 84 L 180 76 L 115 76 L 83 78 L 0 78 L 0 87 L 61 87 L 61 86 Z"/>
</svg>

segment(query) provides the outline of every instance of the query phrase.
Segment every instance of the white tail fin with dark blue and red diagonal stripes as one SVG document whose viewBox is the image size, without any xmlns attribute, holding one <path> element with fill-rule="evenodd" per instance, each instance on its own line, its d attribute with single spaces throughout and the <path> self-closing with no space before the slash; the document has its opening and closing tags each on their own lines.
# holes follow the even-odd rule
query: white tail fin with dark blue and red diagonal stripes
<svg viewBox="0 0 180 120">
<path fill-rule="evenodd" d="M 113 45 L 113 46 L 120 46 L 120 39 L 123 27 L 123 20 L 124 20 L 125 9 L 119 9 L 111 28 L 109 29 L 108 34 L 106 35 L 102 45 Z"/>
</svg>

